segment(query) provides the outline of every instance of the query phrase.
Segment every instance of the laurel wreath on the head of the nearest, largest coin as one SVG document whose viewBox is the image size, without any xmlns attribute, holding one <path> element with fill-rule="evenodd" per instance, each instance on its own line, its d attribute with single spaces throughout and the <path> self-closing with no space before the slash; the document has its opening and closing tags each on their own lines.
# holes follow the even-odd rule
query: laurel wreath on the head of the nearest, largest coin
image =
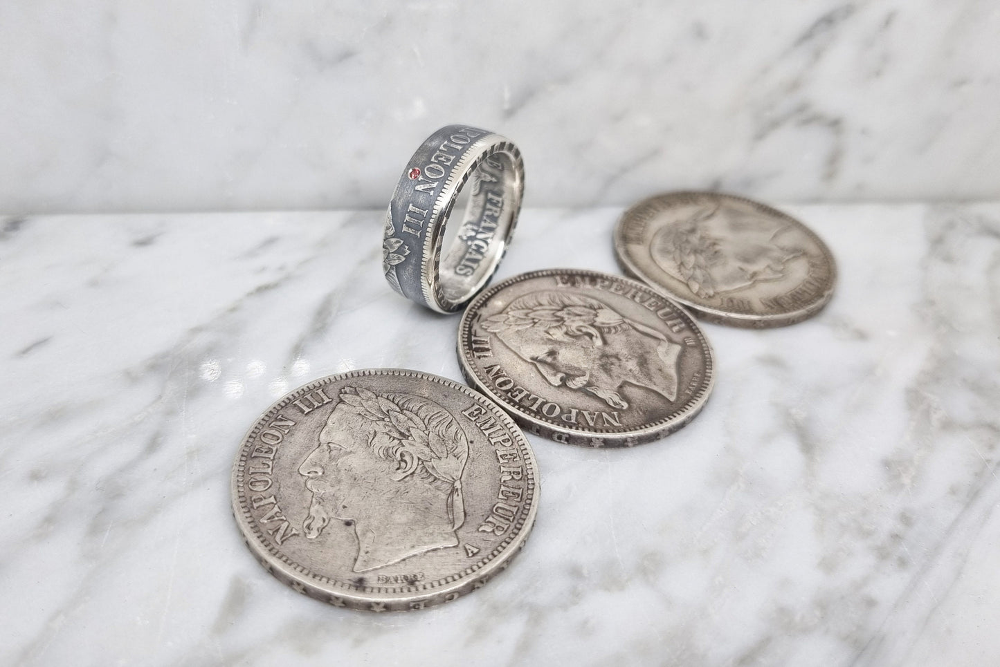
<svg viewBox="0 0 1000 667">
<path fill-rule="evenodd" d="M 387 396 L 363 386 L 348 386 L 341 390 L 340 399 L 358 414 L 374 422 L 377 433 L 387 436 L 388 443 L 379 443 L 373 435 L 371 444 L 376 454 L 385 456 L 388 453 L 398 460 L 399 452 L 406 449 L 416 456 L 431 475 L 452 485 L 448 496 L 448 512 L 454 527 L 461 526 L 465 522 L 461 481 L 464 459 L 450 452 L 444 439 L 433 433 L 419 414 L 402 407 Z"/>
</svg>

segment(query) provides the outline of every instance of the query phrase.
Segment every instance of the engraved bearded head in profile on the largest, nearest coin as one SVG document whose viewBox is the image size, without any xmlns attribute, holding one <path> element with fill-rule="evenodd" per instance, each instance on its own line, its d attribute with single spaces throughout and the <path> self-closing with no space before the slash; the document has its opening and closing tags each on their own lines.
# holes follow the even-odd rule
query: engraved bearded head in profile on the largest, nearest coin
<svg viewBox="0 0 1000 667">
<path fill-rule="evenodd" d="M 465 433 L 436 402 L 346 387 L 299 465 L 312 492 L 303 533 L 316 539 L 331 518 L 353 522 L 355 572 L 456 546 L 468 456 Z"/>
</svg>

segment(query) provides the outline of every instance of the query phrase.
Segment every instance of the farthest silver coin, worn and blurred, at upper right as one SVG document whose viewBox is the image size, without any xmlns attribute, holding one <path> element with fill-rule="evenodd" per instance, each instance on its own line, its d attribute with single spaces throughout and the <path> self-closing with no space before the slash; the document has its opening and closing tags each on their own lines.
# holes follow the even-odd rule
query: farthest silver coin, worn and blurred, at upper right
<svg viewBox="0 0 1000 667">
<path fill-rule="evenodd" d="M 704 320 L 783 327 L 833 296 L 833 256 L 805 225 L 768 206 L 717 193 L 644 200 L 615 227 L 625 273 L 662 290 Z"/>
</svg>

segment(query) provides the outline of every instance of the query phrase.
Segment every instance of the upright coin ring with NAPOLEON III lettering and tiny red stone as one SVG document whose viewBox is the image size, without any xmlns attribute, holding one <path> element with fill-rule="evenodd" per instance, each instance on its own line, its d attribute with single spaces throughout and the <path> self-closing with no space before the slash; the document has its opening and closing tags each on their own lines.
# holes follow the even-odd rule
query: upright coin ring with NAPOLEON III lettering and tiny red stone
<svg viewBox="0 0 1000 667">
<path fill-rule="evenodd" d="M 471 183 L 469 183 L 471 181 Z M 463 188 L 469 201 L 454 241 L 445 228 Z M 386 214 L 386 280 L 438 313 L 461 310 L 492 278 L 524 194 L 521 152 L 505 137 L 465 125 L 441 128 L 403 170 Z"/>
</svg>

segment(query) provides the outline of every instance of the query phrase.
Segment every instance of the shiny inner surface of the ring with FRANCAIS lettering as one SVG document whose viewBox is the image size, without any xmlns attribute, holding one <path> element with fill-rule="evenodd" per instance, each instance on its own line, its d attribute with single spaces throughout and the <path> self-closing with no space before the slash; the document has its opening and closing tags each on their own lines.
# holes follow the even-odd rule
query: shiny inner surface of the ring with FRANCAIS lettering
<svg viewBox="0 0 1000 667">
<path fill-rule="evenodd" d="M 455 200 L 457 209 L 468 193 L 461 222 L 449 218 L 444 230 L 439 285 L 445 300 L 465 301 L 493 274 L 506 245 L 516 187 L 514 165 L 506 153 L 494 153 L 469 175 Z"/>
</svg>

